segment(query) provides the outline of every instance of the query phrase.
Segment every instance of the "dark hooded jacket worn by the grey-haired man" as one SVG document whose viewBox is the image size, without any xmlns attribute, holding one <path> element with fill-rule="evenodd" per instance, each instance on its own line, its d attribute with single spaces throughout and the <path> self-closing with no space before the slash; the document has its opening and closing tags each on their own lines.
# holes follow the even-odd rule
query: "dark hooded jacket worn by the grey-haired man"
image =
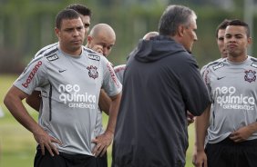
<svg viewBox="0 0 257 167">
<path fill-rule="evenodd" d="M 187 110 L 210 103 L 198 65 L 165 36 L 140 41 L 129 55 L 113 143 L 113 167 L 182 167 Z"/>
</svg>

